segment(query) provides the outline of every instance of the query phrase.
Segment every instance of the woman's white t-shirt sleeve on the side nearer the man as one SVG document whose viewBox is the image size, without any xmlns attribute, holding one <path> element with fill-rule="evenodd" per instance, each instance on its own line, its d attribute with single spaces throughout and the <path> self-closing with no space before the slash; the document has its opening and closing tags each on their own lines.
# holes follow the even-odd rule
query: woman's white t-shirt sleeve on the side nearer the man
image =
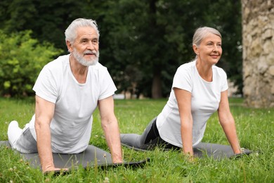
<svg viewBox="0 0 274 183">
<path fill-rule="evenodd" d="M 174 75 L 172 89 L 174 89 L 174 87 L 184 89 L 188 92 L 192 92 L 193 90 L 193 82 L 192 77 L 190 77 L 190 71 L 183 68 L 183 66 L 180 66 Z"/>
</svg>

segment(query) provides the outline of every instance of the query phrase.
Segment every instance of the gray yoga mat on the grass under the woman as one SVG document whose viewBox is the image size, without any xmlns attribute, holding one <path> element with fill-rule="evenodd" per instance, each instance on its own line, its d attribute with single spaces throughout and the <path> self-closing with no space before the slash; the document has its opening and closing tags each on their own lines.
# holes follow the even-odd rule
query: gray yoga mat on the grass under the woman
<svg viewBox="0 0 274 183">
<path fill-rule="evenodd" d="M 136 151 L 147 151 L 135 148 L 133 146 L 129 146 L 127 144 L 122 145 Z M 237 158 L 243 155 L 248 155 L 252 153 L 252 151 L 250 151 L 249 149 L 242 149 L 242 153 L 234 154 L 231 146 L 201 142 L 200 144 L 197 144 L 195 147 L 193 147 L 193 153 L 194 156 L 198 158 L 211 157 L 216 160 L 221 160 L 223 158 Z"/>
</svg>

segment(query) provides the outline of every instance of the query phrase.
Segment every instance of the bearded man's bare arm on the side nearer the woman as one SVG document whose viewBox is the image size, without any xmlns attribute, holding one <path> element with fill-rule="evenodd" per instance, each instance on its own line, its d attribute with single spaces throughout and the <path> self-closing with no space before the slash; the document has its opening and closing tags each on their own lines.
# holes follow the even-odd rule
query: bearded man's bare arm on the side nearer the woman
<svg viewBox="0 0 274 183">
<path fill-rule="evenodd" d="M 112 96 L 98 101 L 101 125 L 105 133 L 107 146 L 110 148 L 112 163 L 122 163 L 122 149 L 117 118 L 114 113 L 114 101 Z"/>
</svg>

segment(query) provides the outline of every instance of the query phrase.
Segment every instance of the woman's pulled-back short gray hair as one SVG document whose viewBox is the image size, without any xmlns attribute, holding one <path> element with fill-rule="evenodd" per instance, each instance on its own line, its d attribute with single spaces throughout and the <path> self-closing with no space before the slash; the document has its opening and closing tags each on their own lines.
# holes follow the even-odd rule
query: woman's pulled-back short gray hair
<svg viewBox="0 0 274 183">
<path fill-rule="evenodd" d="M 209 33 L 216 34 L 222 39 L 221 33 L 218 32 L 218 30 L 211 27 L 200 27 L 197 28 L 195 34 L 193 35 L 193 45 L 199 47 L 202 42 L 202 39 L 204 39 L 204 37 L 206 37 Z"/>
</svg>

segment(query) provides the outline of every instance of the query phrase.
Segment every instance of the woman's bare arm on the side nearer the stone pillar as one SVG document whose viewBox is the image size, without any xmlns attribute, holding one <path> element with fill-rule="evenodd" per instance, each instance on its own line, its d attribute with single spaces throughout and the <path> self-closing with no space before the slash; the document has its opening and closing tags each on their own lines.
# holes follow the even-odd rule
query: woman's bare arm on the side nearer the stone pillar
<svg viewBox="0 0 274 183">
<path fill-rule="evenodd" d="M 218 107 L 218 119 L 234 153 L 241 153 L 240 144 L 237 139 L 235 121 L 229 108 L 228 90 L 221 92 L 221 101 Z"/>
</svg>

